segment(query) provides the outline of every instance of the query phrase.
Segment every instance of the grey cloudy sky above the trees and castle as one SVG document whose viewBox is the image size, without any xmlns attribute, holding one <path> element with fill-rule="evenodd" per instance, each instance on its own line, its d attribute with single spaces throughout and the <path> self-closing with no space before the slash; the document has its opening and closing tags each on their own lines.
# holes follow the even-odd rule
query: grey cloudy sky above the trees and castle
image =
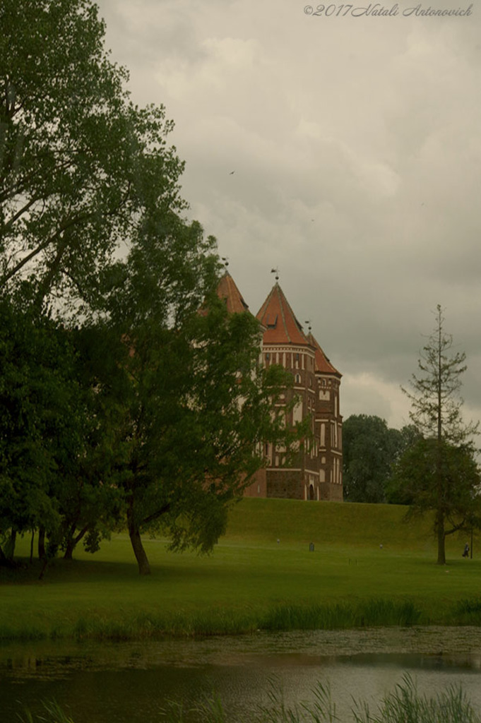
<svg viewBox="0 0 481 723">
<path fill-rule="evenodd" d="M 305 1 L 98 4 L 133 100 L 175 121 L 190 216 L 253 313 L 279 269 L 344 418 L 409 422 L 399 385 L 441 304 L 480 419 L 481 7 Z"/>
</svg>

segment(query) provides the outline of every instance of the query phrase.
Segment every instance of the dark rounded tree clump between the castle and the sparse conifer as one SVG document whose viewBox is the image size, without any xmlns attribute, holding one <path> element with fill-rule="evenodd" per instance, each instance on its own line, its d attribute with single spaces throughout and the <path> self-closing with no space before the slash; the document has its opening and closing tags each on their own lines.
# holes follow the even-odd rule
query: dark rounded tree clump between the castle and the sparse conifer
<svg viewBox="0 0 481 723">
<path fill-rule="evenodd" d="M 343 424 L 344 495 L 349 502 L 386 502 L 397 459 L 411 443 L 412 427 L 390 429 L 384 419 L 352 414 Z"/>
</svg>

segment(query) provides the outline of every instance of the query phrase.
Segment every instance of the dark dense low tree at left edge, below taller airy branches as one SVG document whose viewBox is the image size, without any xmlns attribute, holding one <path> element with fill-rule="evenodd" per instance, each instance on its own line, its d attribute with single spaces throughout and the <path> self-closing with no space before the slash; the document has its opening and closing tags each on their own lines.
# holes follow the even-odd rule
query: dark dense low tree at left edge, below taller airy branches
<svg viewBox="0 0 481 723">
<path fill-rule="evenodd" d="M 114 495 L 101 483 L 106 440 L 95 419 L 78 333 L 0 301 L 0 538 L 44 530 L 67 557 L 95 547 Z"/>
</svg>

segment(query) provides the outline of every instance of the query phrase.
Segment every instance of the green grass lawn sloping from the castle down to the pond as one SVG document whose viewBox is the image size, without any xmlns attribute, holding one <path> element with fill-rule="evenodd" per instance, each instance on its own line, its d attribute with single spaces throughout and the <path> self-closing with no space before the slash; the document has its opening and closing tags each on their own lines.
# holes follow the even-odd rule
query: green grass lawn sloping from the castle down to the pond
<svg viewBox="0 0 481 723">
<path fill-rule="evenodd" d="M 73 562 L 56 560 L 39 582 L 38 563 L 27 565 L 30 540 L 21 539 L 25 568 L 0 572 L 0 639 L 481 624 L 477 539 L 474 560 L 461 558 L 462 537 L 448 542 L 448 565 L 435 565 L 427 521 L 405 525 L 404 512 L 246 499 L 208 557 L 174 555 L 166 541 L 146 538 L 147 578 L 120 534 L 94 556 L 80 548 Z"/>
</svg>

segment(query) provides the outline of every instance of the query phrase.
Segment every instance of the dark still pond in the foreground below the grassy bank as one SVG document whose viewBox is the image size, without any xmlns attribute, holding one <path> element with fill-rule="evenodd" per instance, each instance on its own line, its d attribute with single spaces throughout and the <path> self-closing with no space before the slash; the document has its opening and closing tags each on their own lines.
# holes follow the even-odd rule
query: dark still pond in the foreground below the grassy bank
<svg viewBox="0 0 481 723">
<path fill-rule="evenodd" d="M 55 699 L 76 723 L 153 723 L 168 701 L 187 708 L 217 693 L 235 722 L 268 704 L 275 685 L 288 704 L 328 684 L 342 721 L 353 698 L 376 701 L 405 673 L 420 693 L 461 684 L 481 711 L 481 630 L 409 628 L 257 633 L 149 643 L 25 643 L 0 647 L 1 720 Z M 274 681 L 274 683 L 273 683 Z M 195 716 L 194 716 L 195 718 Z"/>
</svg>

